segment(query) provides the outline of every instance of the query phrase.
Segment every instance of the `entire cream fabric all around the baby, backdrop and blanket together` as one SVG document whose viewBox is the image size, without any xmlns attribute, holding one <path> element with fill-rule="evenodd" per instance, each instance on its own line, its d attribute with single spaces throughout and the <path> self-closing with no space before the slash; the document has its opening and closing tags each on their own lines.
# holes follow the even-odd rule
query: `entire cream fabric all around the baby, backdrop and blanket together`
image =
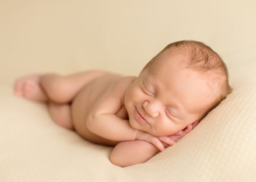
<svg viewBox="0 0 256 182">
<path fill-rule="evenodd" d="M 0 181 L 255 181 L 255 6 L 220 0 L 2 1 Z M 138 74 L 165 45 L 182 39 L 216 50 L 234 90 L 177 144 L 143 164 L 113 165 L 111 147 L 59 127 L 46 104 L 13 96 L 15 78 L 34 72 Z"/>
</svg>

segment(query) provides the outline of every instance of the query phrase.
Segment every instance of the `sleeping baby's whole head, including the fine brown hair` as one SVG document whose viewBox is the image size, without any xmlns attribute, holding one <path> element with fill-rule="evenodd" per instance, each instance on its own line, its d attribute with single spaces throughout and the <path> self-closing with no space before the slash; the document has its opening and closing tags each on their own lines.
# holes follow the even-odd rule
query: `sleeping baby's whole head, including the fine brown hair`
<svg viewBox="0 0 256 182">
<path fill-rule="evenodd" d="M 147 63 L 125 106 L 133 128 L 164 136 L 201 119 L 230 92 L 221 57 L 204 43 L 179 41 Z"/>
</svg>

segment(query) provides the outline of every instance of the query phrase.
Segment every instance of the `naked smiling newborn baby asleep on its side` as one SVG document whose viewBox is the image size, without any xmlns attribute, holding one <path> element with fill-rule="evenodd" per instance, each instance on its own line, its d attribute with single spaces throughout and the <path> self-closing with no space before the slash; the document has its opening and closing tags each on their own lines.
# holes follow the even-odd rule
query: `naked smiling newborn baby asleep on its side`
<svg viewBox="0 0 256 182">
<path fill-rule="evenodd" d="M 230 92 L 225 63 L 197 41 L 167 45 L 138 77 L 87 71 L 15 82 L 15 95 L 47 102 L 58 125 L 115 146 L 110 160 L 122 167 L 174 145 Z"/>
</svg>

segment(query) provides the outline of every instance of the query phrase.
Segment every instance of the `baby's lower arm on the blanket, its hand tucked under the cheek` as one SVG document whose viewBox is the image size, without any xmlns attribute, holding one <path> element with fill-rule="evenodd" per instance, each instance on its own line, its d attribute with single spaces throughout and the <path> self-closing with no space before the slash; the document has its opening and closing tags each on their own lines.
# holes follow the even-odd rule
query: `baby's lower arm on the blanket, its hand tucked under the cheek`
<svg viewBox="0 0 256 182">
<path fill-rule="evenodd" d="M 198 121 L 195 121 L 193 124 L 188 125 L 184 130 L 182 130 L 182 132 L 178 132 L 179 135 L 174 134 L 168 137 L 177 141 L 185 134 L 189 133 L 197 124 Z M 163 143 L 163 146 L 167 147 L 168 144 Z M 141 140 L 124 141 L 115 146 L 110 154 L 110 160 L 115 165 L 126 167 L 129 165 L 144 163 L 157 152 L 159 152 L 159 149 L 152 143 Z"/>
</svg>

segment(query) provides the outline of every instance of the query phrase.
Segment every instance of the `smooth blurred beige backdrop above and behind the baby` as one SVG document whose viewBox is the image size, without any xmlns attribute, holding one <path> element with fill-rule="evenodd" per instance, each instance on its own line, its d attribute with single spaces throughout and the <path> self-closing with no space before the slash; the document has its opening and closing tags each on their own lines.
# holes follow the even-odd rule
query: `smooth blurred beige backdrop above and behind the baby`
<svg viewBox="0 0 256 182">
<path fill-rule="evenodd" d="M 137 75 L 183 39 L 205 42 L 227 64 L 252 60 L 255 22 L 253 0 L 1 0 L 0 81 L 91 68 Z"/>
</svg>

